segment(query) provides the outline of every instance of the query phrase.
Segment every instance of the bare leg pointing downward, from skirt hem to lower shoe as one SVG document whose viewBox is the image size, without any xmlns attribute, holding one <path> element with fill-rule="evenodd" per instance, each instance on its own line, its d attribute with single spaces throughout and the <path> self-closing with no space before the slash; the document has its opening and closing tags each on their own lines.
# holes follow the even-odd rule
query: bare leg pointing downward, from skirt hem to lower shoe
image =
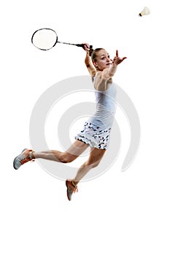
<svg viewBox="0 0 170 256">
<path fill-rule="evenodd" d="M 79 183 L 90 169 L 96 167 L 99 162 L 101 162 L 101 158 L 104 156 L 105 152 L 105 149 L 91 148 L 88 160 L 77 171 L 77 175 L 74 178 L 75 185 Z"/>
</svg>

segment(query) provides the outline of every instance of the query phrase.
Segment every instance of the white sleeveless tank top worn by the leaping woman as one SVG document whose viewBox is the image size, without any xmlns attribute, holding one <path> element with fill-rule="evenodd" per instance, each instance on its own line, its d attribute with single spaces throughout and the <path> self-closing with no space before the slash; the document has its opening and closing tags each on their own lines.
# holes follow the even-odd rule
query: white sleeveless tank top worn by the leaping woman
<svg viewBox="0 0 170 256">
<path fill-rule="evenodd" d="M 109 89 L 105 91 L 95 89 L 96 113 L 88 119 L 88 122 L 103 130 L 111 128 L 116 112 L 116 94 L 117 89 L 115 83 L 112 83 Z"/>
</svg>

